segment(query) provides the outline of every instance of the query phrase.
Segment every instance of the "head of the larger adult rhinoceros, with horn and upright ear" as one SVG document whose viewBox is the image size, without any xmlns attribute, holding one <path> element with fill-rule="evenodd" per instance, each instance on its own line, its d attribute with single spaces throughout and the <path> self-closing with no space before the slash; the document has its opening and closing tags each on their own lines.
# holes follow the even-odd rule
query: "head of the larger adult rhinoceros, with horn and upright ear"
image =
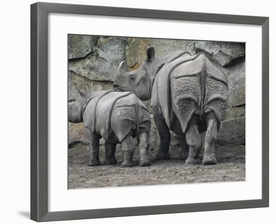
<svg viewBox="0 0 276 224">
<path fill-rule="evenodd" d="M 155 50 L 148 44 L 146 51 L 147 57 L 145 61 L 134 71 L 127 71 L 124 67 L 124 61 L 119 64 L 113 84 L 114 91 L 133 92 L 141 100 L 149 100 L 151 98 L 151 80 L 148 67 L 155 57 Z"/>
</svg>

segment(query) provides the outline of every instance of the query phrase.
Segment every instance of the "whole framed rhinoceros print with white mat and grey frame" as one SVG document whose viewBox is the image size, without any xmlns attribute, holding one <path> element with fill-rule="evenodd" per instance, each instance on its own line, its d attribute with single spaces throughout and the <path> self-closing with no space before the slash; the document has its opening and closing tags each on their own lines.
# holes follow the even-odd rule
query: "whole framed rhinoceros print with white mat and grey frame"
<svg viewBox="0 0 276 224">
<path fill-rule="evenodd" d="M 266 207 L 268 191 L 268 18 L 31 5 L 31 219 Z"/>
</svg>

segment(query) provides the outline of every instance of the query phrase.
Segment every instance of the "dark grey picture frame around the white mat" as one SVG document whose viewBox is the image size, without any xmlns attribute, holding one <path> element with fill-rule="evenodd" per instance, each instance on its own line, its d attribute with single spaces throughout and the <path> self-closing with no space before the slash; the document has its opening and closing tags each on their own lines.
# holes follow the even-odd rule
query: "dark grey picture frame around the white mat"
<svg viewBox="0 0 276 224">
<path fill-rule="evenodd" d="M 262 32 L 262 198 L 192 204 L 48 211 L 48 13 L 120 16 L 150 19 L 186 20 L 261 25 Z M 269 205 L 269 97 L 268 97 L 268 17 L 208 14 L 149 9 L 131 9 L 55 3 L 31 5 L 31 219 L 35 221 L 71 220 L 209 211 Z"/>
</svg>

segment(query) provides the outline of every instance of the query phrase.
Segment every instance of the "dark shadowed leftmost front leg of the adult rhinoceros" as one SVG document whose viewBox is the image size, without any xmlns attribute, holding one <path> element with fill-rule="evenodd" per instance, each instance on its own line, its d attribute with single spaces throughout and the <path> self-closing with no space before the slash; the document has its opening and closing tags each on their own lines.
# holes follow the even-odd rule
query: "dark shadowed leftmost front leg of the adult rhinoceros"
<svg viewBox="0 0 276 224">
<path fill-rule="evenodd" d="M 160 136 L 160 146 L 159 150 L 155 155 L 156 160 L 169 160 L 169 147 L 171 142 L 171 133 L 166 122 L 162 118 L 162 115 L 159 113 L 158 109 L 153 107 L 154 121 Z"/>
</svg>

